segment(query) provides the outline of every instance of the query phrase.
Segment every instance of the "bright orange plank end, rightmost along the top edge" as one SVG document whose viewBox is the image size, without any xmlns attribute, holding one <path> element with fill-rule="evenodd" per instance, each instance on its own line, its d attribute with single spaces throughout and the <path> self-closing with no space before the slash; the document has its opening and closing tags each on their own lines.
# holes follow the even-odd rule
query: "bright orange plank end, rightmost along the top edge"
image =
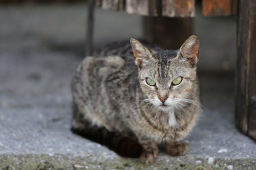
<svg viewBox="0 0 256 170">
<path fill-rule="evenodd" d="M 237 0 L 203 0 L 204 16 L 228 16 L 237 14 Z"/>
</svg>

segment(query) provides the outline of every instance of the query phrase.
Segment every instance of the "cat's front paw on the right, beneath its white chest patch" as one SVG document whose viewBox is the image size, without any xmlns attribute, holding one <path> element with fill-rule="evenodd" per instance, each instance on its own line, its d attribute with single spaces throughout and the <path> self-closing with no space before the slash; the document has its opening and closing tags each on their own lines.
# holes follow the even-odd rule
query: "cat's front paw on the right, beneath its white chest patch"
<svg viewBox="0 0 256 170">
<path fill-rule="evenodd" d="M 165 149 L 166 149 L 166 152 L 172 156 L 182 156 L 182 155 L 187 154 L 189 151 L 188 144 L 183 141 L 168 142 L 168 143 L 166 143 Z"/>
</svg>

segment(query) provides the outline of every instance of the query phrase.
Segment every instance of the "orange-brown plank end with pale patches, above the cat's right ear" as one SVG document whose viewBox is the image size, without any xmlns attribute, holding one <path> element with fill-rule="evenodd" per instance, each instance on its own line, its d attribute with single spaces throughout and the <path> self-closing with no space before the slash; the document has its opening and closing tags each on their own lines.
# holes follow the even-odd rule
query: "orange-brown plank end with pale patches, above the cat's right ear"
<svg viewBox="0 0 256 170">
<path fill-rule="evenodd" d="M 162 15 L 169 17 L 194 17 L 195 0 L 162 0 Z"/>
</svg>

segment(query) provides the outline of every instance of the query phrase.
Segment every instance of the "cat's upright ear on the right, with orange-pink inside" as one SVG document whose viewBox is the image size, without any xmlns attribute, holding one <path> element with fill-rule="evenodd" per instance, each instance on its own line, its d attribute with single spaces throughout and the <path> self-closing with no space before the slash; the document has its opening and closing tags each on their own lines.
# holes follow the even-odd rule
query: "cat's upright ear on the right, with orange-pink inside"
<svg viewBox="0 0 256 170">
<path fill-rule="evenodd" d="M 195 66 L 199 60 L 199 38 L 191 35 L 180 47 L 180 57 L 187 59 L 191 66 Z"/>
</svg>

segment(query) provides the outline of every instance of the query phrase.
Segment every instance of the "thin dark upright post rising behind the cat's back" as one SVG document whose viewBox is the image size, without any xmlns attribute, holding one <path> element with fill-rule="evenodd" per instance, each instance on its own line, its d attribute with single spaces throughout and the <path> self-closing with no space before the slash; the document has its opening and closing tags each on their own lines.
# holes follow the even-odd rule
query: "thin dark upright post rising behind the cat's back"
<svg viewBox="0 0 256 170">
<path fill-rule="evenodd" d="M 93 55 L 93 32 L 94 32 L 94 6 L 95 0 L 88 1 L 87 34 L 86 34 L 86 56 Z"/>
</svg>

